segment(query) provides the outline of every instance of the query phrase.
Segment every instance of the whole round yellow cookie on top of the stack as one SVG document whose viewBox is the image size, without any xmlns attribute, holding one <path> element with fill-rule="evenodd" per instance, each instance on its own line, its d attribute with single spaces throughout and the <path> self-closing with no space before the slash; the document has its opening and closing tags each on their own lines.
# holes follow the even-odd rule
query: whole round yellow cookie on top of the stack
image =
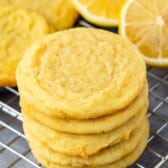
<svg viewBox="0 0 168 168">
<path fill-rule="evenodd" d="M 88 119 L 126 107 L 144 86 L 145 63 L 119 35 L 74 28 L 34 44 L 17 70 L 21 99 L 49 115 Z"/>
</svg>

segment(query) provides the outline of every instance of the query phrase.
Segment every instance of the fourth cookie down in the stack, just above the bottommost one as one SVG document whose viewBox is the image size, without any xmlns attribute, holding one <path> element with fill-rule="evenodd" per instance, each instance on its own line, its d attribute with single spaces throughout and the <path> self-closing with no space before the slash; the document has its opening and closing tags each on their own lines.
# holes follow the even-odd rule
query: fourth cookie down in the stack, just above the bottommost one
<svg viewBox="0 0 168 168">
<path fill-rule="evenodd" d="M 123 140 L 114 146 L 105 148 L 104 150 L 92 155 L 88 158 L 81 158 L 71 155 L 65 155 L 56 152 L 51 146 L 47 146 L 40 139 L 32 134 L 27 134 L 29 145 L 33 153 L 42 154 L 45 158 L 51 162 L 55 162 L 61 165 L 71 165 L 76 167 L 85 166 L 102 166 L 113 163 L 136 149 L 141 142 L 144 134 L 148 131 L 148 121 L 145 118 L 142 122 L 142 126 L 137 128 L 130 136 L 128 140 Z M 41 152 L 43 151 L 43 152 Z"/>
</svg>

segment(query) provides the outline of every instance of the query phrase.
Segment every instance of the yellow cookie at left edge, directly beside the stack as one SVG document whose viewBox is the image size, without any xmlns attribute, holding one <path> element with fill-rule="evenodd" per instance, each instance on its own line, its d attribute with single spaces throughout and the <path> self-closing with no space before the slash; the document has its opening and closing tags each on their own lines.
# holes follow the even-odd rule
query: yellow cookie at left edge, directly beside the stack
<svg viewBox="0 0 168 168">
<path fill-rule="evenodd" d="M 49 26 L 42 16 L 0 5 L 0 86 L 16 86 L 15 71 L 24 51 L 48 33 Z"/>
</svg>

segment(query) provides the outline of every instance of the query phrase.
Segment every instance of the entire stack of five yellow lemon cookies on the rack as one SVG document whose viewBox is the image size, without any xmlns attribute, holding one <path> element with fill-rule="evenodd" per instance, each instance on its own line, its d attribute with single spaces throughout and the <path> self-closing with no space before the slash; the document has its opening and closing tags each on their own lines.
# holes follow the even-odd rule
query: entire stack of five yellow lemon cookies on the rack
<svg viewBox="0 0 168 168">
<path fill-rule="evenodd" d="M 145 63 L 122 37 L 74 28 L 36 42 L 17 69 L 24 131 L 46 168 L 122 168 L 149 134 Z"/>
</svg>

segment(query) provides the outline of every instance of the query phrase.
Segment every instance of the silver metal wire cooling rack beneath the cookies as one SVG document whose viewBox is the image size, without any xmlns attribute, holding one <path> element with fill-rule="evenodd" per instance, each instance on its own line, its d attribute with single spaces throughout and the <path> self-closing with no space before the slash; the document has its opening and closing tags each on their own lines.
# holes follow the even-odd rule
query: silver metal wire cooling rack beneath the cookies
<svg viewBox="0 0 168 168">
<path fill-rule="evenodd" d="M 77 26 L 91 27 L 80 19 Z M 117 31 L 115 28 L 111 31 Z M 131 168 L 168 168 L 168 69 L 148 68 L 150 137 Z M 40 168 L 22 130 L 17 88 L 0 88 L 0 168 Z"/>
</svg>

